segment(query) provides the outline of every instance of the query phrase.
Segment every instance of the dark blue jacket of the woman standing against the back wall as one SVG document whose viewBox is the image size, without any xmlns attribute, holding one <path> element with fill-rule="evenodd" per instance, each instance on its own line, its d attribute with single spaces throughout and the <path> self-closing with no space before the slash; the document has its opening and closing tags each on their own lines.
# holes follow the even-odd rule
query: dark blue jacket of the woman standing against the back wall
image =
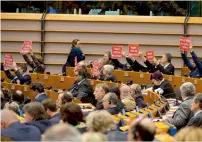
<svg viewBox="0 0 202 142">
<path fill-rule="evenodd" d="M 82 60 L 85 60 L 85 56 L 83 56 L 83 52 L 80 48 L 77 47 L 72 47 L 69 56 L 67 58 L 67 62 L 70 67 L 74 67 L 74 60 L 75 57 L 77 57 L 77 62 L 80 62 Z"/>
</svg>

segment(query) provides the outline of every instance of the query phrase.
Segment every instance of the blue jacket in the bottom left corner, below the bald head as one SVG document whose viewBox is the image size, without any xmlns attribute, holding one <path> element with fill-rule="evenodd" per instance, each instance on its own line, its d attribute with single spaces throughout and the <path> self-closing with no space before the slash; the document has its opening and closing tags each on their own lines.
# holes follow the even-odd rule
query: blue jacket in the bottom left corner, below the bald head
<svg viewBox="0 0 202 142">
<path fill-rule="evenodd" d="M 41 133 L 39 129 L 33 126 L 27 126 L 23 123 L 14 122 L 8 128 L 1 129 L 2 136 L 8 136 L 14 141 L 40 141 Z"/>
</svg>

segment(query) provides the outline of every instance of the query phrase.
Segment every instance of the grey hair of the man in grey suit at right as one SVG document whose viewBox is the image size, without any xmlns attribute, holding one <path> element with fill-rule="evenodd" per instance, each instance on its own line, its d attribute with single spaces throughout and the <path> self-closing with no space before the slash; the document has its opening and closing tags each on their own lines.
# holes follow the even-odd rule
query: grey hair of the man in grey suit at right
<svg viewBox="0 0 202 142">
<path fill-rule="evenodd" d="M 185 97 L 194 96 L 196 88 L 191 82 L 185 82 L 180 86 L 180 91 Z"/>
</svg>

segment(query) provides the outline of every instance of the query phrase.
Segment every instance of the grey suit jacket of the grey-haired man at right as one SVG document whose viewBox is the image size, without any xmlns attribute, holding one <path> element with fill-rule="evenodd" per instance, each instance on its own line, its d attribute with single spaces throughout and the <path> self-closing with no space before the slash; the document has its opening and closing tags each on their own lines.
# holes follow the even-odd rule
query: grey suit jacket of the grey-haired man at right
<svg viewBox="0 0 202 142">
<path fill-rule="evenodd" d="M 173 124 L 177 129 L 186 126 L 194 115 L 190 109 L 192 100 L 193 97 L 189 97 L 183 101 L 173 114 L 173 117 L 168 118 L 166 122 Z"/>
</svg>

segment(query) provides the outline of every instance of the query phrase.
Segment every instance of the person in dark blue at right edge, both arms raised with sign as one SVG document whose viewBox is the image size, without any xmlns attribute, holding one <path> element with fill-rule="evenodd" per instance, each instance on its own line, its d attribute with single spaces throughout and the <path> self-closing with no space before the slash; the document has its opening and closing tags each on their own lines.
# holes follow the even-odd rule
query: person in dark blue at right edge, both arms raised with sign
<svg viewBox="0 0 202 142">
<path fill-rule="evenodd" d="M 181 51 L 182 59 L 184 61 L 184 64 L 190 70 L 189 77 L 201 78 L 202 77 L 202 61 L 200 61 L 200 59 L 197 57 L 192 46 L 190 46 L 190 48 L 191 48 L 190 54 L 193 59 L 192 64 L 183 51 Z"/>
</svg>

